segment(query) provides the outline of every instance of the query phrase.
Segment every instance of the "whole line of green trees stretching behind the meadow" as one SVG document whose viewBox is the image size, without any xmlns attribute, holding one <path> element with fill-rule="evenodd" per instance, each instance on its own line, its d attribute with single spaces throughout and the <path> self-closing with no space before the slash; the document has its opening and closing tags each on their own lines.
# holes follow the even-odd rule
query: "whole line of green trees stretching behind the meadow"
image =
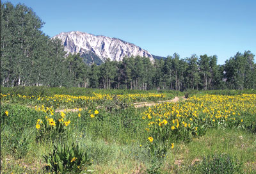
<svg viewBox="0 0 256 174">
<path fill-rule="evenodd" d="M 250 51 L 217 65 L 217 56 L 179 54 L 166 59 L 140 56 L 86 65 L 79 54 L 66 56 L 60 40 L 40 29 L 44 22 L 24 4 L 1 3 L 1 85 L 77 86 L 140 90 L 254 89 L 256 64 Z"/>
</svg>

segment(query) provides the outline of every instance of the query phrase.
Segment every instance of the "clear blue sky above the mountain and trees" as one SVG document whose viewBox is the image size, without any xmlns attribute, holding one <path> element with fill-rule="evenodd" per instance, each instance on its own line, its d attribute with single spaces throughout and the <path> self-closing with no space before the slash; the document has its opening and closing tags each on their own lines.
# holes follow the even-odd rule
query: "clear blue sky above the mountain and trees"
<svg viewBox="0 0 256 174">
<path fill-rule="evenodd" d="M 2 1 L 6 2 L 6 1 Z M 45 35 L 81 31 L 120 38 L 156 56 L 256 54 L 255 0 L 11 0 L 42 19 Z"/>
</svg>

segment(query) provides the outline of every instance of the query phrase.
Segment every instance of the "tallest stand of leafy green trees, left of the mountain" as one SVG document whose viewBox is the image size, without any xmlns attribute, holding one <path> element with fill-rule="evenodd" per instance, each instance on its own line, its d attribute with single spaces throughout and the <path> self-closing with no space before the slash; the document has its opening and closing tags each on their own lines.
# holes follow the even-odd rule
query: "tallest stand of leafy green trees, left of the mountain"
<svg viewBox="0 0 256 174">
<path fill-rule="evenodd" d="M 68 86 L 63 45 L 24 4 L 1 2 L 1 85 Z"/>
</svg>

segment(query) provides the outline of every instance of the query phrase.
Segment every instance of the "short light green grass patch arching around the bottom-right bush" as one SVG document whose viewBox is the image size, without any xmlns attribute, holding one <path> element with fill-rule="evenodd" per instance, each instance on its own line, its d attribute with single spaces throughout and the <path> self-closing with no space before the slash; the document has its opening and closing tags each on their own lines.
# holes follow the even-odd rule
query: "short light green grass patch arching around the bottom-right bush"
<svg viewBox="0 0 256 174">
<path fill-rule="evenodd" d="M 241 162 L 245 173 L 253 173 L 256 167 L 255 141 L 256 135 L 252 132 L 211 129 L 205 136 L 195 138 L 188 144 L 177 144 L 175 150 L 167 155 L 163 170 L 174 169 L 174 173 L 189 173 L 188 167 L 199 163 L 207 155 L 228 154 Z"/>
</svg>

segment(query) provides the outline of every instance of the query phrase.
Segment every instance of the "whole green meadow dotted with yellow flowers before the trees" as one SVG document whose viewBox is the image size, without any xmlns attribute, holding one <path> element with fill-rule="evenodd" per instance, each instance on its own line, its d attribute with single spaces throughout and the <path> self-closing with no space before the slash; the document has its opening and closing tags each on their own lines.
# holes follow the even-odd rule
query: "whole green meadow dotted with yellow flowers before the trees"
<svg viewBox="0 0 256 174">
<path fill-rule="evenodd" d="M 253 90 L 1 88 L 1 173 L 255 171 Z"/>
</svg>

